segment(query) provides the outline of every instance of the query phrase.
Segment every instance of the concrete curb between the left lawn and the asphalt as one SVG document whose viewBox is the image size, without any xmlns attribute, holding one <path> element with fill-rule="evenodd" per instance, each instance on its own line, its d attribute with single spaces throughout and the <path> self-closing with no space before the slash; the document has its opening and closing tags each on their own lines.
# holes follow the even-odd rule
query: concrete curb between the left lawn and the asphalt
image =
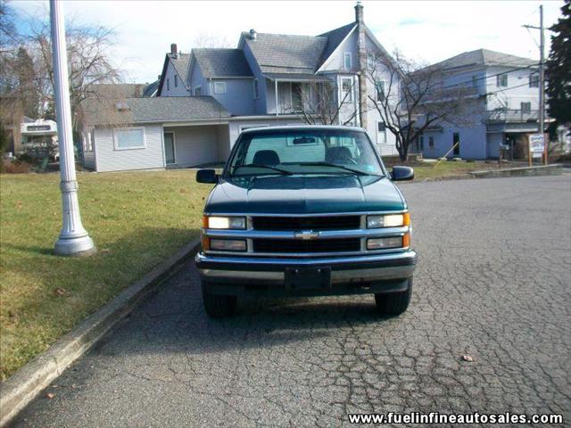
<svg viewBox="0 0 571 428">
<path fill-rule="evenodd" d="M 8 424 L 12 418 L 36 398 L 52 381 L 76 359 L 87 352 L 103 334 L 117 325 L 133 309 L 156 291 L 162 281 L 168 278 L 174 268 L 186 261 L 194 253 L 200 239 L 194 239 L 177 251 L 176 254 L 153 268 L 137 283 L 107 303 L 79 323 L 70 333 L 65 334 L 46 352 L 33 359 L 0 384 L 0 426 Z"/>
</svg>

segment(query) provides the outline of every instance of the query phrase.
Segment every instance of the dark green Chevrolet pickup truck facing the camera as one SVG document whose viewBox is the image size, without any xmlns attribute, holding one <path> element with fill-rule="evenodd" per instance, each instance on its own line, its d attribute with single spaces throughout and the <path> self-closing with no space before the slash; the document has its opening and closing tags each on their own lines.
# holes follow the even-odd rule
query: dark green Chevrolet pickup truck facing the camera
<svg viewBox="0 0 571 428">
<path fill-rule="evenodd" d="M 236 140 L 204 207 L 196 267 L 204 309 L 227 317 L 240 295 L 375 294 L 383 315 L 410 302 L 417 253 L 410 214 L 361 128 L 256 128 Z"/>
</svg>

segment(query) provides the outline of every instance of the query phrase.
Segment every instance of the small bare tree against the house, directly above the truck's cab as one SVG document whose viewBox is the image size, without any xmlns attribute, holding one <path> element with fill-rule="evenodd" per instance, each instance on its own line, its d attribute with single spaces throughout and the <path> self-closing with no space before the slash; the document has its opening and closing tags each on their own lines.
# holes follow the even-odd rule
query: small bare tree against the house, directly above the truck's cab
<svg viewBox="0 0 571 428">
<path fill-rule="evenodd" d="M 292 110 L 308 125 L 348 125 L 357 117 L 358 109 L 353 103 L 354 83 L 340 91 L 333 81 L 317 81 L 297 86 L 297 104 Z M 338 101 L 338 102 L 337 102 Z"/>
</svg>

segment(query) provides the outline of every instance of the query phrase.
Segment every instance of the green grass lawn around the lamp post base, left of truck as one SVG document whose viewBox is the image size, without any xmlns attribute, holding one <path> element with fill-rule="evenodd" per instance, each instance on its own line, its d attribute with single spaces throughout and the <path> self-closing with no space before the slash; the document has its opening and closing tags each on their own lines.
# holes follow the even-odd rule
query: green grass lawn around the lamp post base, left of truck
<svg viewBox="0 0 571 428">
<path fill-rule="evenodd" d="M 97 254 L 53 254 L 59 174 L 0 175 L 0 377 L 46 350 L 199 234 L 211 185 L 188 169 L 79 173 L 83 224 Z"/>
</svg>

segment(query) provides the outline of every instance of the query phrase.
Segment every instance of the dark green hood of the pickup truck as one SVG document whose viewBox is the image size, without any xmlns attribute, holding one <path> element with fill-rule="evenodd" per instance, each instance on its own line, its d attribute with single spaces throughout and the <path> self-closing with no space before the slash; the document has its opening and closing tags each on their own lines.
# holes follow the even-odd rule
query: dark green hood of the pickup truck
<svg viewBox="0 0 571 428">
<path fill-rule="evenodd" d="M 405 210 L 401 192 L 386 177 L 270 176 L 221 181 L 209 214 L 319 214 Z"/>
</svg>

